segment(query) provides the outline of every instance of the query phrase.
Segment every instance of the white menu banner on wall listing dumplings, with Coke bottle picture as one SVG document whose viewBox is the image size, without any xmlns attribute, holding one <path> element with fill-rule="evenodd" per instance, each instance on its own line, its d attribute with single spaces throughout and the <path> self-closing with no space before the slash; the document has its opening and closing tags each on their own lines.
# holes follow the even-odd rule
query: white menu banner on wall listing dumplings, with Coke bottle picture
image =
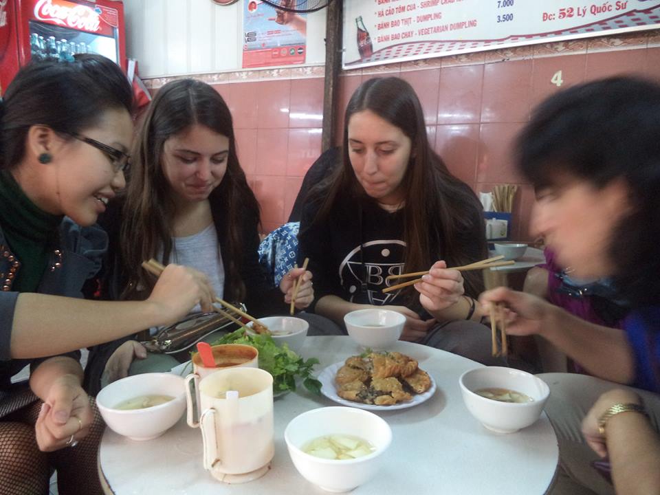
<svg viewBox="0 0 660 495">
<path fill-rule="evenodd" d="M 343 67 L 657 28 L 657 0 L 344 0 Z"/>
</svg>

